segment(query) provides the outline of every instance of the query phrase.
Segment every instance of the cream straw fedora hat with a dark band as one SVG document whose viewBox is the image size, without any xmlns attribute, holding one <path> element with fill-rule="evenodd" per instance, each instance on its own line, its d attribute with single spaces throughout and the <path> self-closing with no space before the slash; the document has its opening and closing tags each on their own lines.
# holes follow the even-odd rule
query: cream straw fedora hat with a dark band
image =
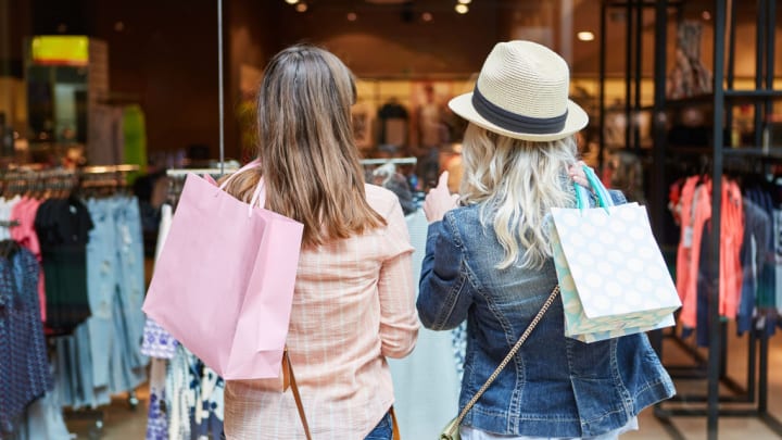
<svg viewBox="0 0 782 440">
<path fill-rule="evenodd" d="M 568 99 L 570 71 L 556 52 L 532 41 L 500 42 L 483 63 L 474 91 L 449 102 L 454 113 L 516 139 L 548 141 L 586 126 Z"/>
</svg>

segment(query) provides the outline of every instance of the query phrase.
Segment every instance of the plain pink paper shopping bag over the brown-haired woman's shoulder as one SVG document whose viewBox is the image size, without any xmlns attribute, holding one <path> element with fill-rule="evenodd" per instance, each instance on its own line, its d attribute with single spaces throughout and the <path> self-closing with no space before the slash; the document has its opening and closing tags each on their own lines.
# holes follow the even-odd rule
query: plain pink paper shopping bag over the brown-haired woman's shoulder
<svg viewBox="0 0 782 440">
<path fill-rule="evenodd" d="M 278 377 L 288 336 L 303 225 L 262 192 L 248 204 L 189 174 L 142 307 L 225 379 Z"/>
</svg>

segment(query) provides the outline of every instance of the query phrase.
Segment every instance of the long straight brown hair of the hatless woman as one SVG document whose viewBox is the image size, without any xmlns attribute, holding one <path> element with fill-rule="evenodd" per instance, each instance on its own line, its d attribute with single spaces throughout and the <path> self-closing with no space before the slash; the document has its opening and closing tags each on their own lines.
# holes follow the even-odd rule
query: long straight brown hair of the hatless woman
<svg viewBox="0 0 782 440">
<path fill-rule="evenodd" d="M 355 98 L 352 73 L 332 53 L 311 45 L 277 53 L 257 96 L 261 173 L 236 176 L 228 192 L 249 201 L 263 175 L 265 208 L 304 224 L 303 247 L 384 225 L 366 201 Z"/>
</svg>

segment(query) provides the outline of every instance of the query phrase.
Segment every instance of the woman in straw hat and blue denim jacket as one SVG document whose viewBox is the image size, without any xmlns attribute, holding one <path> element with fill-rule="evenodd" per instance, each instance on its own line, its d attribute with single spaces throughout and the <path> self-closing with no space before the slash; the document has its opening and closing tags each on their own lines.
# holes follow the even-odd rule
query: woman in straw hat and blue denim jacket
<svg viewBox="0 0 782 440">
<path fill-rule="evenodd" d="M 586 114 L 568 99 L 569 71 L 550 49 L 501 42 L 472 92 L 449 105 L 469 122 L 461 205 L 447 176 L 427 196 L 430 222 L 417 306 L 424 325 L 467 319 L 459 410 L 508 354 L 557 285 L 552 206 L 573 206 L 573 135 Z M 615 202 L 623 202 L 613 192 Z M 673 395 L 645 335 L 590 344 L 565 337 L 556 299 L 462 420 L 465 440 L 615 439 L 639 412 Z"/>
</svg>

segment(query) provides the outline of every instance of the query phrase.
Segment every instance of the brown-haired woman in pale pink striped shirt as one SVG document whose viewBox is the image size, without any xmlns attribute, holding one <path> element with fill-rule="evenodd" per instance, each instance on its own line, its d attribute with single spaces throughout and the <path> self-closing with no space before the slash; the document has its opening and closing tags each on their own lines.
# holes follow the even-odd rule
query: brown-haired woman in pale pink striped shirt
<svg viewBox="0 0 782 440">
<path fill-rule="evenodd" d="M 304 224 L 288 351 L 314 439 L 390 439 L 386 357 L 414 348 L 409 244 L 396 196 L 366 185 L 353 141 L 351 72 L 330 52 L 293 46 L 266 67 L 257 98 L 257 169 L 228 191 Z M 228 381 L 228 439 L 298 439 L 304 430 L 279 380 Z"/>
</svg>

